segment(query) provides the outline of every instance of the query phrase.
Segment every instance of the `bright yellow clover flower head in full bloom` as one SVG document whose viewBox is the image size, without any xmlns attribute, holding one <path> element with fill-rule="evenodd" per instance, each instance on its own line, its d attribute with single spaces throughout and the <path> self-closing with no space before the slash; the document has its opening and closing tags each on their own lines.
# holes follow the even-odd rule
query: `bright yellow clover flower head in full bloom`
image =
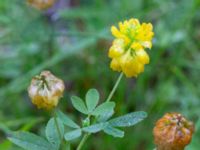
<svg viewBox="0 0 200 150">
<path fill-rule="evenodd" d="M 112 58 L 110 67 L 123 72 L 127 77 L 137 77 L 149 63 L 145 48 L 152 47 L 153 26 L 151 23 L 140 24 L 138 19 L 119 23 L 119 29 L 111 27 L 114 39 L 108 56 Z"/>
</svg>

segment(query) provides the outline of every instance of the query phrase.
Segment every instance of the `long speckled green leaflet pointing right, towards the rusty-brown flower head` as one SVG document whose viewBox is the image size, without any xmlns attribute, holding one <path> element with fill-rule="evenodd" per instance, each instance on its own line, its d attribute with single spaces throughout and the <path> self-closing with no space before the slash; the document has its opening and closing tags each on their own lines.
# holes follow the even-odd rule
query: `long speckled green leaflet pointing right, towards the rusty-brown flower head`
<svg viewBox="0 0 200 150">
<path fill-rule="evenodd" d="M 143 111 L 132 112 L 109 121 L 113 127 L 129 127 L 137 124 L 147 117 L 147 113 Z"/>
</svg>

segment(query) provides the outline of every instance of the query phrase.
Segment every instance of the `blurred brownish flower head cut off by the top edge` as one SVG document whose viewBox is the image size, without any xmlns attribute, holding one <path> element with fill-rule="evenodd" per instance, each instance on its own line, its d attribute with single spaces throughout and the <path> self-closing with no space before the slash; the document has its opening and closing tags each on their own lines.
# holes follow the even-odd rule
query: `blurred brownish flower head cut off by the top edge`
<svg viewBox="0 0 200 150">
<path fill-rule="evenodd" d="M 52 7 L 55 3 L 55 0 L 27 0 L 27 2 L 29 5 L 43 10 Z"/>
</svg>

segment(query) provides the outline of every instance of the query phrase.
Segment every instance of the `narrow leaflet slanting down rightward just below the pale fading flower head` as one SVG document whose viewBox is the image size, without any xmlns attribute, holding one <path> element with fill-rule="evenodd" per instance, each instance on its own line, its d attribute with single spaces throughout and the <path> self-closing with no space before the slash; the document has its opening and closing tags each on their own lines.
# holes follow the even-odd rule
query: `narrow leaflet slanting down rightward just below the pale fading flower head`
<svg viewBox="0 0 200 150">
<path fill-rule="evenodd" d="M 80 128 L 79 125 L 77 125 L 73 120 L 71 120 L 67 115 L 65 115 L 60 110 L 57 112 L 58 117 L 60 120 L 68 127 L 71 128 Z"/>
</svg>

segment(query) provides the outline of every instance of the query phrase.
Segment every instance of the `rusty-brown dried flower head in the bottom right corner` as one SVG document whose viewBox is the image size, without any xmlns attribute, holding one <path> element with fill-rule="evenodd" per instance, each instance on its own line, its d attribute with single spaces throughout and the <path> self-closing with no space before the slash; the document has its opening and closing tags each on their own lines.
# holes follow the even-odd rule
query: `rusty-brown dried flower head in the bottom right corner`
<svg viewBox="0 0 200 150">
<path fill-rule="evenodd" d="M 153 129 L 157 150 L 184 150 L 192 139 L 194 125 L 179 113 L 167 113 Z"/>
</svg>

